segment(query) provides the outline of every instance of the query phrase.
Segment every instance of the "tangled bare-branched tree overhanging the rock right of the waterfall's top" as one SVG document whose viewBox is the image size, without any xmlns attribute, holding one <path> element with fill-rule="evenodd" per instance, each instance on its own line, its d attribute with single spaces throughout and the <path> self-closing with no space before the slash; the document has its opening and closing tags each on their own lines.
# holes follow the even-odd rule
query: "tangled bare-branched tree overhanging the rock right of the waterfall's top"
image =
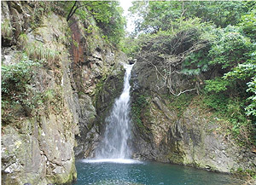
<svg viewBox="0 0 256 185">
<path fill-rule="evenodd" d="M 184 9 L 185 11 L 185 9 Z M 183 93 L 196 90 L 199 93 L 200 85 L 189 90 L 179 90 L 174 88 L 173 80 L 175 74 L 182 74 L 181 68 L 183 61 L 193 52 L 207 46 L 207 40 L 197 38 L 198 32 L 195 29 L 179 32 L 175 36 L 159 36 L 151 38 L 144 43 L 143 49 L 137 57 L 143 65 L 152 66 L 156 78 L 161 80 L 157 85 L 158 89 L 166 88 L 172 95 L 182 95 Z"/>
</svg>

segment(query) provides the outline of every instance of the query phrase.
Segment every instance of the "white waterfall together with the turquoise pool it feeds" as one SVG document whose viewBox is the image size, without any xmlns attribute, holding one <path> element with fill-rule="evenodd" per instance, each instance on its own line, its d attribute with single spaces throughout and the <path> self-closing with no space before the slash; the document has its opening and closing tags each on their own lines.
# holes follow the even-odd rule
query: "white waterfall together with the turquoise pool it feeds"
<svg viewBox="0 0 256 185">
<path fill-rule="evenodd" d="M 130 89 L 132 65 L 125 65 L 124 89 L 114 102 L 105 120 L 106 130 L 94 159 L 76 162 L 78 181 L 76 185 L 178 185 L 240 184 L 229 175 L 201 171 L 195 168 L 142 162 L 131 158 Z"/>
</svg>

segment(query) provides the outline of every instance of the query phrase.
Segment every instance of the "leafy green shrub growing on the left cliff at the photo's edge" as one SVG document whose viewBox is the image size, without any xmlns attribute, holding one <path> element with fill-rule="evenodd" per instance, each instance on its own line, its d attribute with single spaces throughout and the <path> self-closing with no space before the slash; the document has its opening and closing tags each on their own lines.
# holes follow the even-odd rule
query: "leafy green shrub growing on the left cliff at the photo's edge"
<svg viewBox="0 0 256 185">
<path fill-rule="evenodd" d="M 61 90 L 41 90 L 32 88 L 32 79 L 45 61 L 31 61 L 23 55 L 19 63 L 2 66 L 2 120 L 3 124 L 13 123 L 15 119 L 32 116 L 36 110 L 53 110 L 59 113 Z"/>
</svg>

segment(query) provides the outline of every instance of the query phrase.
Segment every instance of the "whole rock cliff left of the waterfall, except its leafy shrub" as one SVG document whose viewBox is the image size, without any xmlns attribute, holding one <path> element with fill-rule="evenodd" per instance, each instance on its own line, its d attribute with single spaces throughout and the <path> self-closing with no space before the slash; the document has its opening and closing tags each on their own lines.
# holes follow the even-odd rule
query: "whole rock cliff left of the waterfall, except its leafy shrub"
<svg viewBox="0 0 256 185">
<path fill-rule="evenodd" d="M 42 63 L 20 96 L 3 95 L 2 184 L 71 184 L 75 157 L 89 157 L 96 147 L 102 127 L 96 107 L 110 100 L 107 92 L 102 95 L 104 82 L 124 72 L 119 62 L 126 62 L 125 55 L 100 30 L 85 32 L 96 26 L 92 16 L 67 22 L 50 2 L 1 6 L 3 67 Z"/>
</svg>

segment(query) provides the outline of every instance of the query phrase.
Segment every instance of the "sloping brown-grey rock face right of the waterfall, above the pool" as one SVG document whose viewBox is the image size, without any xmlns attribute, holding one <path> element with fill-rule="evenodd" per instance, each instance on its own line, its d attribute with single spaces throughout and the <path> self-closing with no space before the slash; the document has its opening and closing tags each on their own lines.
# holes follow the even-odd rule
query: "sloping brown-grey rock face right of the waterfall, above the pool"
<svg viewBox="0 0 256 185">
<path fill-rule="evenodd" d="M 185 79 L 177 79 L 178 88 Z M 131 76 L 131 109 L 135 159 L 192 165 L 209 171 L 231 172 L 238 168 L 255 170 L 256 155 L 236 145 L 220 131 L 221 123 L 211 112 L 201 109 L 193 95 L 187 106 L 174 107 L 154 69 L 137 62 Z M 187 94 L 189 95 L 189 94 Z"/>
</svg>

